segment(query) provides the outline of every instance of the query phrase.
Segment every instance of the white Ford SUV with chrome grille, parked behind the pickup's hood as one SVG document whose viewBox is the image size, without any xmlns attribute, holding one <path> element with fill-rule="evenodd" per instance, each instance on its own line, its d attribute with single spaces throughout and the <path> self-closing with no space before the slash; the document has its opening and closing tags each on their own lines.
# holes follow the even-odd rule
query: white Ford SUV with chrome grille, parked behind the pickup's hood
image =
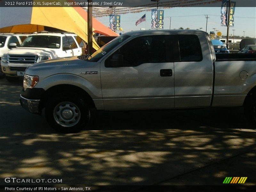
<svg viewBox="0 0 256 192">
<path fill-rule="evenodd" d="M 1 68 L 8 81 L 24 76 L 25 69 L 43 60 L 82 55 L 84 41 L 72 33 L 37 33 L 29 35 L 19 48 L 2 56 Z"/>
</svg>

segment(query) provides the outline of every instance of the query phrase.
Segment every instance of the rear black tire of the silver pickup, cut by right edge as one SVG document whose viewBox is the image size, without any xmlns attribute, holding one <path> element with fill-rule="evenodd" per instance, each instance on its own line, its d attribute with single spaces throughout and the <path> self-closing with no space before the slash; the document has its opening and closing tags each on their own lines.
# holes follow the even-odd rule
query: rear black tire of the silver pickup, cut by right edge
<svg viewBox="0 0 256 192">
<path fill-rule="evenodd" d="M 256 128 L 256 92 L 247 96 L 244 103 L 244 115 L 250 124 Z"/>
</svg>

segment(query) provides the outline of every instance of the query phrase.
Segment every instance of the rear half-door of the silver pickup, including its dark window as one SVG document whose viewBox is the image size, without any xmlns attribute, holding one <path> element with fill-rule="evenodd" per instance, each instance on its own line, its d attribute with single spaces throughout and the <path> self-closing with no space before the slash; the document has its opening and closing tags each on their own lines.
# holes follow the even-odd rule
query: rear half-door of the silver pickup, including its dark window
<svg viewBox="0 0 256 192">
<path fill-rule="evenodd" d="M 175 108 L 209 107 L 213 64 L 205 35 L 173 36 Z"/>
</svg>

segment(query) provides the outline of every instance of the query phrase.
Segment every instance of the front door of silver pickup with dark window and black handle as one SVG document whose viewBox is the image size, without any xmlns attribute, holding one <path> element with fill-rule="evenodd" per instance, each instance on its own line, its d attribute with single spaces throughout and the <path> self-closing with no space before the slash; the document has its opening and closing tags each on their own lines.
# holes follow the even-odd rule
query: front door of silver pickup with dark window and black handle
<svg viewBox="0 0 256 192">
<path fill-rule="evenodd" d="M 105 110 L 173 108 L 171 49 L 170 35 L 140 36 L 103 60 L 101 86 Z M 111 66 L 114 54 L 123 55 L 122 67 Z"/>
</svg>

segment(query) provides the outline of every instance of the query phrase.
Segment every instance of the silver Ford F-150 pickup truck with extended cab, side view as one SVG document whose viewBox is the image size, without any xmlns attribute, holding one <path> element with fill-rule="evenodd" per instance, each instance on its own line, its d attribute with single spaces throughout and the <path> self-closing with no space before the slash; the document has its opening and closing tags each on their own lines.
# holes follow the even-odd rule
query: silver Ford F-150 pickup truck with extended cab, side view
<svg viewBox="0 0 256 192">
<path fill-rule="evenodd" d="M 48 123 L 77 132 L 92 109 L 146 110 L 244 106 L 256 124 L 256 55 L 216 54 L 198 30 L 132 31 L 88 56 L 27 68 L 20 103 L 45 108 Z"/>
</svg>

